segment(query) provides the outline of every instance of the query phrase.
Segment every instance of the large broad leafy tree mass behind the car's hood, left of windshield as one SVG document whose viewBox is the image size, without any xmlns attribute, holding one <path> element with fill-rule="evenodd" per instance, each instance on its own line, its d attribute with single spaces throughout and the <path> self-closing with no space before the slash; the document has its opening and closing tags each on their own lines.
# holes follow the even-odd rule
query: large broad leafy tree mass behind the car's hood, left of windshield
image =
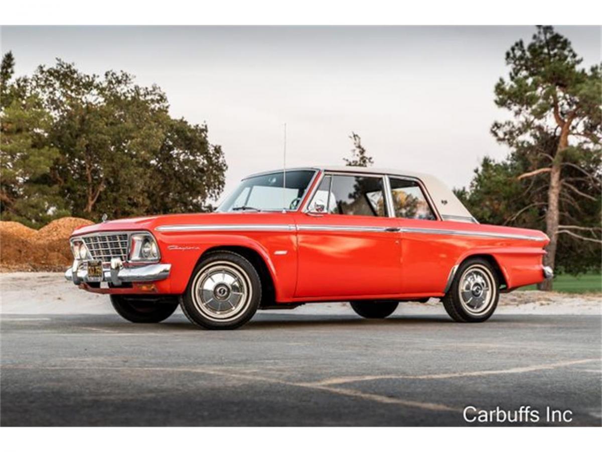
<svg viewBox="0 0 602 452">
<path fill-rule="evenodd" d="M 125 72 L 84 74 L 61 60 L 40 66 L 32 84 L 54 118 L 49 141 L 60 159 L 52 176 L 73 215 L 193 211 L 223 189 L 222 150 L 209 145 L 206 127 L 170 118 L 159 87 L 138 86 Z"/>
</svg>

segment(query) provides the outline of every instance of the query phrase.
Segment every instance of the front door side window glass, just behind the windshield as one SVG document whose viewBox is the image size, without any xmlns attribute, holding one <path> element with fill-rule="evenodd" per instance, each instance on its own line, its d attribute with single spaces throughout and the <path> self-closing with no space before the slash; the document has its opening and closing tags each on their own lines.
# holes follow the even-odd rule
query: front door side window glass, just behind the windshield
<svg viewBox="0 0 602 452">
<path fill-rule="evenodd" d="M 326 181 L 327 179 L 328 181 Z M 324 206 L 327 206 L 328 213 L 363 216 L 388 215 L 381 177 L 326 176 L 318 187 L 314 199 L 318 196 Z"/>
</svg>

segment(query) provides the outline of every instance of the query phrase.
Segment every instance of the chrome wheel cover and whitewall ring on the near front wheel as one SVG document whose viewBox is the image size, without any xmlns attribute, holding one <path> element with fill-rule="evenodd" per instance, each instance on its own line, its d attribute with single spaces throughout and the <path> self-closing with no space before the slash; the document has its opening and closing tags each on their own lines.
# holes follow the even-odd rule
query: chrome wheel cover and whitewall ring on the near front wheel
<svg viewBox="0 0 602 452">
<path fill-rule="evenodd" d="M 240 266 L 228 261 L 211 262 L 194 277 L 192 300 L 204 317 L 226 322 L 244 314 L 252 291 L 251 281 Z"/>
</svg>

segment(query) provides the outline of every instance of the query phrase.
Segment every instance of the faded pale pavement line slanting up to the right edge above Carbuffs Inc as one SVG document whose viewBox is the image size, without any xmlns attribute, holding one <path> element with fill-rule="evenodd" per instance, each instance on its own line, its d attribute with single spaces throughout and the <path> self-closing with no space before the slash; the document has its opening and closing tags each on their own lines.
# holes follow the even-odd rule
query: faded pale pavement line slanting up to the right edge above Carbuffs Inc
<svg viewBox="0 0 602 452">
<path fill-rule="evenodd" d="M 550 364 L 540 364 L 535 366 L 515 367 L 510 369 L 498 369 L 491 371 L 473 371 L 473 372 L 455 372 L 450 374 L 427 374 L 427 375 L 360 375 L 357 377 L 335 377 L 327 378 L 326 380 L 314 381 L 312 385 L 327 386 L 327 385 L 342 385 L 343 383 L 354 383 L 355 381 L 371 381 L 371 380 L 438 380 L 441 378 L 456 378 L 456 377 L 482 377 L 485 375 L 500 375 L 500 374 L 523 374 L 524 372 L 535 372 L 547 369 L 556 369 L 559 367 L 573 366 L 576 364 L 591 363 L 600 361 L 600 359 L 579 359 L 574 361 L 560 361 Z"/>
</svg>

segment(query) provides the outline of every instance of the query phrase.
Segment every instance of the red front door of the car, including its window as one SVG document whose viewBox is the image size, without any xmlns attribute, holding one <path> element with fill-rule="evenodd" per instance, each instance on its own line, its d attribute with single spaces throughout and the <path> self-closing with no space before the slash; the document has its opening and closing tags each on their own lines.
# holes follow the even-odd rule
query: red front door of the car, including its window
<svg viewBox="0 0 602 452">
<path fill-rule="evenodd" d="M 323 175 L 297 217 L 296 298 L 399 293 L 399 228 L 385 186 L 382 175 Z"/>
</svg>

